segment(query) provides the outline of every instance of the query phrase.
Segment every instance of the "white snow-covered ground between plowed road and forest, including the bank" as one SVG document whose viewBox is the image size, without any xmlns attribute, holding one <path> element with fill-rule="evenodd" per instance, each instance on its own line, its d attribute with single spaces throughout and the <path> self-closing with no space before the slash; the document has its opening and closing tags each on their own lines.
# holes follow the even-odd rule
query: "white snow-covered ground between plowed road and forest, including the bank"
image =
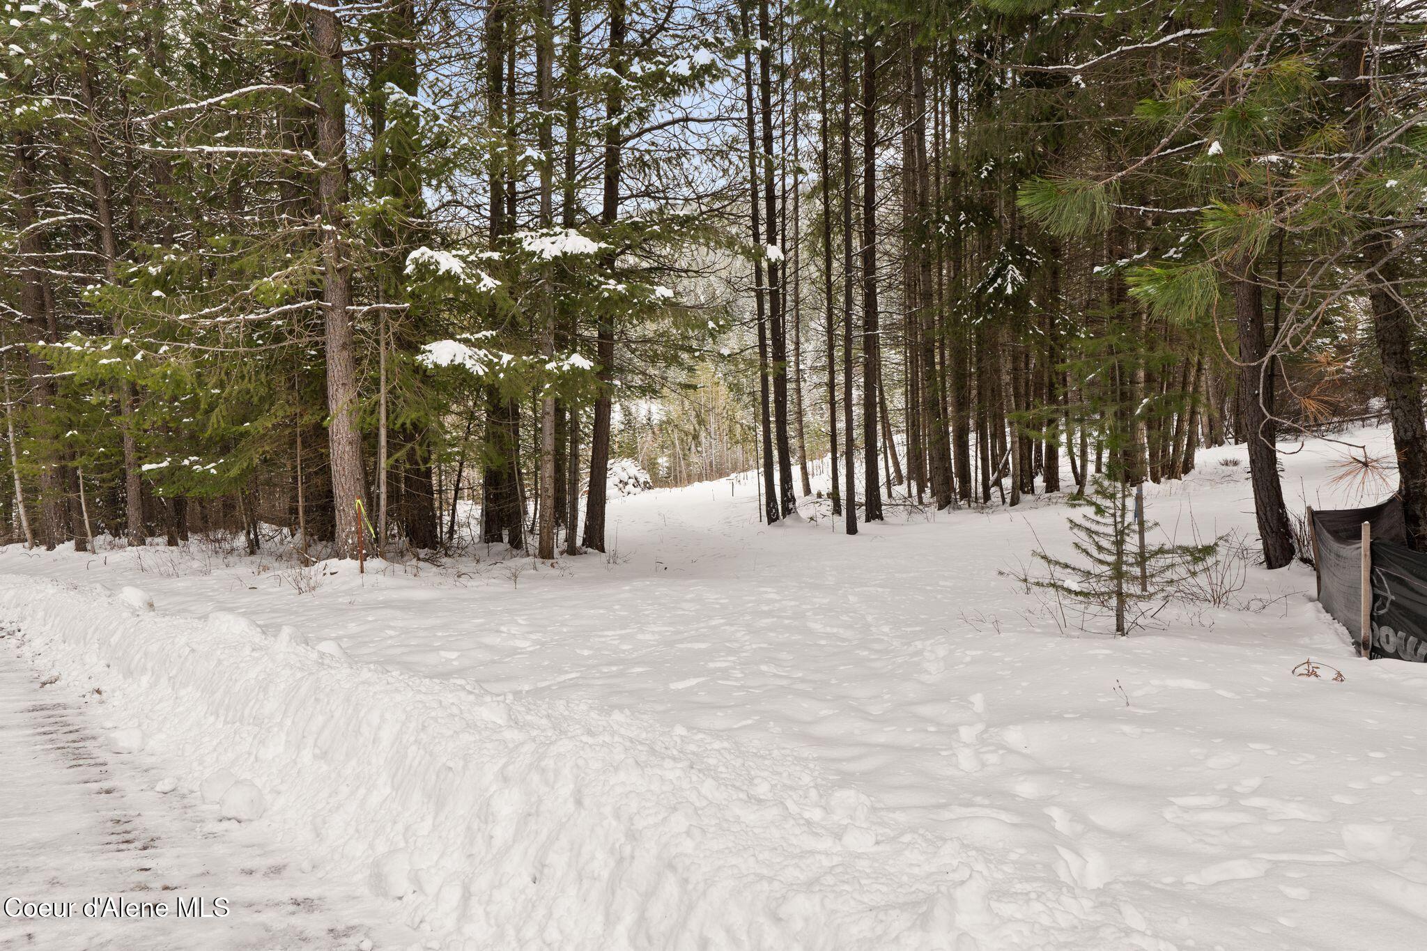
<svg viewBox="0 0 1427 951">
<path fill-rule="evenodd" d="M 1340 458 L 1284 456 L 1291 509 L 1373 500 Z M 1243 449 L 1147 503 L 1251 535 Z M 614 500 L 611 555 L 555 566 L 11 546 L 0 622 L 173 797 L 251 783 L 245 831 L 432 947 L 1421 947 L 1427 667 L 1356 659 L 1301 565 L 1129 639 L 1066 624 L 1002 573 L 1065 515 L 846 538 L 725 479 Z"/>
</svg>

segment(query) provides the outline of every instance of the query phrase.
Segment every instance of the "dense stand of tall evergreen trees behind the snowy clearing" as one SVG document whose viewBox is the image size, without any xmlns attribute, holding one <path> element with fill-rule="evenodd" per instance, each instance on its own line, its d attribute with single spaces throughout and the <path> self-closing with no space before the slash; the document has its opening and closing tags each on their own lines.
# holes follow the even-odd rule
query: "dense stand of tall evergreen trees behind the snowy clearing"
<svg viewBox="0 0 1427 951">
<path fill-rule="evenodd" d="M 621 461 L 850 535 L 1247 443 L 1280 567 L 1280 441 L 1384 415 L 1427 539 L 1418 0 L 6 13 L 11 542 L 548 560 Z"/>
</svg>

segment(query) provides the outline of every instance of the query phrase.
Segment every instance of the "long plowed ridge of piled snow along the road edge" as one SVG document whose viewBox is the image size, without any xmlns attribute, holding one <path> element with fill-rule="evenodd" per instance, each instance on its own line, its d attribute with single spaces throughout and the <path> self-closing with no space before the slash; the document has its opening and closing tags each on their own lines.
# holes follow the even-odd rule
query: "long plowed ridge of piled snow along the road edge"
<svg viewBox="0 0 1427 951">
<path fill-rule="evenodd" d="M 442 948 L 963 951 L 1007 947 L 1002 922 L 1030 938 L 1015 947 L 1119 935 L 1079 888 L 996 883 L 989 853 L 889 837 L 866 797 L 791 751 L 136 600 L 0 577 L 0 623 L 68 689 L 103 686 L 110 719 L 181 764 L 180 788 L 305 843 Z"/>
</svg>

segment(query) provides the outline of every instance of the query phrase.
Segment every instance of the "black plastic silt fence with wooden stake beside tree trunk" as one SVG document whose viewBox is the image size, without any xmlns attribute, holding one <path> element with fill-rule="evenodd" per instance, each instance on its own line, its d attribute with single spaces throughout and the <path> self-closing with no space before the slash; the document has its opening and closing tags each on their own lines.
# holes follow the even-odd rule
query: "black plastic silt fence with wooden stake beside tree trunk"
<svg viewBox="0 0 1427 951">
<path fill-rule="evenodd" d="M 1404 545 L 1401 500 L 1307 515 L 1319 603 L 1353 634 L 1357 652 L 1427 660 L 1427 555 Z"/>
</svg>

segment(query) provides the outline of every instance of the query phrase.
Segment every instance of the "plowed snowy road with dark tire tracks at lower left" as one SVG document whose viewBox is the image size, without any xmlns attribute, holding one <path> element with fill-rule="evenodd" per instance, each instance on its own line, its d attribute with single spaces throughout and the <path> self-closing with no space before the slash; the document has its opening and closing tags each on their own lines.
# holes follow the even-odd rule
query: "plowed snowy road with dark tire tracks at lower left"
<svg viewBox="0 0 1427 951">
<path fill-rule="evenodd" d="M 17 637 L 0 630 L 0 900 L 74 903 L 74 915 L 0 913 L 0 948 L 337 950 L 401 937 L 261 833 L 154 791 L 163 773 L 150 757 L 113 753 L 100 710 L 41 687 Z M 168 917 L 86 917 L 96 897 L 163 904 Z M 203 898 L 204 917 L 177 920 L 180 898 Z"/>
</svg>

